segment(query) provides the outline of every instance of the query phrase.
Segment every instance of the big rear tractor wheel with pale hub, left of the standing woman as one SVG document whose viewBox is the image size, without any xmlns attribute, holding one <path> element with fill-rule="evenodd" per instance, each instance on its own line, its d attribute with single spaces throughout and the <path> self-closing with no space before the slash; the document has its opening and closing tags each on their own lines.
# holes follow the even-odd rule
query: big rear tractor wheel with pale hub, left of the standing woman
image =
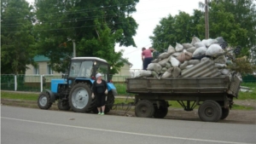
<svg viewBox="0 0 256 144">
<path fill-rule="evenodd" d="M 91 91 L 87 84 L 75 84 L 70 90 L 68 101 L 73 112 L 86 112 L 91 103 Z"/>
</svg>

